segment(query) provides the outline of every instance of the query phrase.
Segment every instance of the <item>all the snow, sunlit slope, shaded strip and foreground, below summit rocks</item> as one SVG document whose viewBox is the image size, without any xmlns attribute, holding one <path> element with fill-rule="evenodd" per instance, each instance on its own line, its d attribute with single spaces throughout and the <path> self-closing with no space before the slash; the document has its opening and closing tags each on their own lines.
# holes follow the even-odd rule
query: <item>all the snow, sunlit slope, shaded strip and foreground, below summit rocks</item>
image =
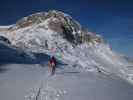
<svg viewBox="0 0 133 100">
<path fill-rule="evenodd" d="M 50 20 L 0 33 L 12 44 L 0 43 L 0 100 L 131 100 L 132 62 L 106 43 L 74 46 L 49 28 Z M 50 76 L 52 55 L 59 64 Z"/>
</svg>

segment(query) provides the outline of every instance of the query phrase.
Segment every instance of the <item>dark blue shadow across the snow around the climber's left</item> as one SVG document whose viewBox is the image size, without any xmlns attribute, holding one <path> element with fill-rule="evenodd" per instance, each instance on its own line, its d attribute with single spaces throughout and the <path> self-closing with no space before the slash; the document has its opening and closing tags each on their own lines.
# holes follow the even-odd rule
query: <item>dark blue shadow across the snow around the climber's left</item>
<svg viewBox="0 0 133 100">
<path fill-rule="evenodd" d="M 0 73 L 6 71 L 7 64 L 40 64 L 42 67 L 48 63 L 50 56 L 44 53 L 31 53 L 12 48 L 0 43 Z M 57 66 L 67 65 L 57 59 Z"/>
</svg>

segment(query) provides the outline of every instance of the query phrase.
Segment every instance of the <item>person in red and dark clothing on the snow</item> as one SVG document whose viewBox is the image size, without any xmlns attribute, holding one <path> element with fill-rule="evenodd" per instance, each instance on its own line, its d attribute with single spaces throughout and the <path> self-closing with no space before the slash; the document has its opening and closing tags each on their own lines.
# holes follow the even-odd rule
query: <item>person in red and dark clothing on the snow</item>
<svg viewBox="0 0 133 100">
<path fill-rule="evenodd" d="M 51 75 L 55 73 L 55 68 L 56 68 L 56 59 L 54 56 L 52 56 L 48 62 L 48 67 L 50 70 Z"/>
</svg>

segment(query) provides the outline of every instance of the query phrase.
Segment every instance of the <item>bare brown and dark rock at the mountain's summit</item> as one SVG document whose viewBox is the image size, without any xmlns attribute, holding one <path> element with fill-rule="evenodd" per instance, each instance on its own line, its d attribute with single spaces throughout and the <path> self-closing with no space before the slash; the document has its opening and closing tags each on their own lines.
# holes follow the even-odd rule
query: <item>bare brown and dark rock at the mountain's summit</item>
<svg viewBox="0 0 133 100">
<path fill-rule="evenodd" d="M 70 17 L 69 15 L 56 10 L 35 13 L 28 17 L 24 17 L 23 19 L 19 20 L 16 25 L 12 26 L 9 31 L 14 34 L 13 38 L 15 38 L 15 35 L 19 34 L 15 34 L 16 31 L 24 28 L 26 29 L 27 27 L 31 28 L 29 28 L 28 30 L 26 29 L 25 31 L 31 31 L 34 26 L 38 26 L 36 27 L 36 31 L 38 31 L 37 28 L 41 30 L 52 30 L 58 33 L 57 35 L 60 35 L 62 38 L 66 39 L 68 42 L 74 45 L 82 44 L 84 42 L 103 42 L 103 39 L 100 36 L 96 35 L 95 33 L 89 32 L 77 21 L 72 19 L 72 17 Z M 21 38 L 24 37 L 25 35 L 23 34 Z M 32 38 L 28 42 L 30 41 L 32 41 Z M 32 41 L 32 43 L 33 42 L 34 44 L 36 44 L 35 41 Z M 21 43 L 19 42 L 17 44 Z"/>
</svg>

